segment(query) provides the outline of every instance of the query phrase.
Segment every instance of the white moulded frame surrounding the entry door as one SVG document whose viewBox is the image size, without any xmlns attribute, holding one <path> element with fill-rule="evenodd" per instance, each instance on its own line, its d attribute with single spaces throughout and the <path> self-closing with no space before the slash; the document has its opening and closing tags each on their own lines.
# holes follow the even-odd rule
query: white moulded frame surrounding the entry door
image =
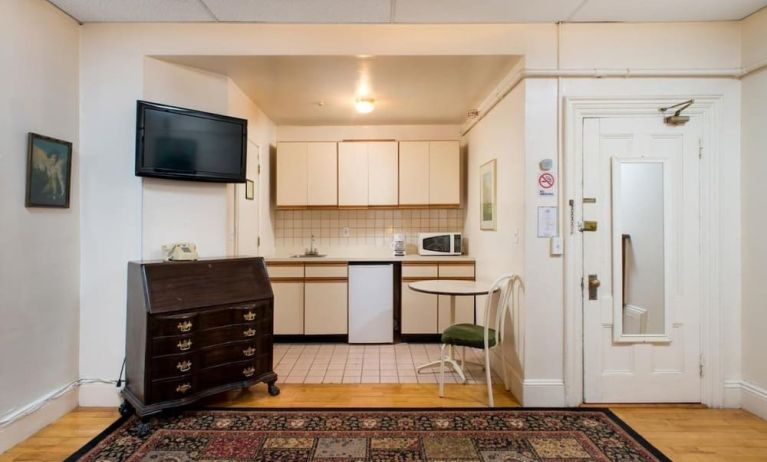
<svg viewBox="0 0 767 462">
<path fill-rule="evenodd" d="M 662 97 L 569 97 L 565 98 L 564 119 L 564 378 L 565 401 L 575 406 L 584 402 L 583 306 L 581 295 L 582 240 L 576 229 L 582 220 L 575 203 L 582 196 L 580 169 L 583 159 L 583 121 L 606 117 L 663 117 L 658 108 L 695 98 L 685 114 L 699 117 L 702 127 L 700 175 L 701 312 L 700 354 L 705 373 L 701 378 L 701 401 L 722 407 L 725 398 L 723 332 L 725 319 L 720 303 L 719 187 L 720 133 L 723 130 L 723 97 L 677 94 Z M 570 205 L 570 200 L 573 205 Z"/>
</svg>

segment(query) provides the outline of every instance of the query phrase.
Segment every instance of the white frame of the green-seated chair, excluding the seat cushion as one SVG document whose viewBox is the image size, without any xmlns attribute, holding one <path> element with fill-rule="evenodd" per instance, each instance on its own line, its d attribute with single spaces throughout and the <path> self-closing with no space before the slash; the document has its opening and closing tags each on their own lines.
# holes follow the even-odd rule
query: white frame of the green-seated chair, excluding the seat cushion
<svg viewBox="0 0 767 462">
<path fill-rule="evenodd" d="M 517 282 L 521 284 L 522 280 L 519 276 L 515 274 L 505 274 L 498 279 L 496 279 L 493 284 L 490 286 L 490 289 L 488 290 L 487 295 L 487 301 L 485 302 L 485 316 L 484 316 L 484 340 L 485 345 L 483 348 L 483 351 L 485 352 L 485 364 L 483 369 L 485 370 L 485 376 L 487 380 L 487 400 L 488 400 L 488 406 L 494 407 L 495 403 L 493 400 L 493 383 L 492 383 L 492 371 L 490 369 L 490 322 L 488 317 L 492 313 L 493 308 L 493 300 L 496 299 L 496 297 L 493 296 L 493 294 L 500 290 L 501 293 L 498 296 L 498 304 L 496 305 L 495 310 L 495 323 L 494 323 L 494 329 L 495 329 L 495 346 L 494 347 L 500 347 L 501 352 L 501 367 L 503 369 L 503 384 L 506 391 L 509 390 L 509 382 L 508 382 L 508 374 L 506 373 L 506 358 L 504 357 L 503 353 L 503 337 L 504 337 L 504 330 L 506 328 L 506 317 L 509 312 L 509 301 L 511 300 L 512 304 L 514 305 L 514 308 L 512 309 L 512 313 L 518 314 L 518 308 L 519 308 L 519 297 L 512 297 L 514 295 L 514 289 L 516 287 Z M 517 319 L 518 322 L 522 321 L 521 316 L 518 316 Z M 520 329 L 521 326 L 514 326 L 515 332 L 522 332 Z M 524 341 L 519 342 L 520 345 L 524 344 Z M 444 397 L 445 396 L 445 348 L 446 347 L 452 347 L 452 345 L 448 345 L 446 343 L 442 344 L 442 348 L 440 349 L 440 363 L 439 363 L 439 396 Z M 463 347 L 465 350 L 466 347 Z M 462 355 L 463 356 L 463 355 Z M 461 361 L 461 367 L 464 365 L 464 361 Z"/>
</svg>

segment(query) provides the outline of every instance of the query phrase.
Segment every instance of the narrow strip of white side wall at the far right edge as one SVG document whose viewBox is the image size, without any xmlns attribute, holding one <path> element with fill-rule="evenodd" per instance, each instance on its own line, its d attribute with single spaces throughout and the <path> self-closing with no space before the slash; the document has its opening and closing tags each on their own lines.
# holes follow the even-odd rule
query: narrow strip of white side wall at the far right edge
<svg viewBox="0 0 767 462">
<path fill-rule="evenodd" d="M 744 67 L 767 63 L 767 10 L 751 16 L 743 27 Z M 767 69 L 748 75 L 742 81 L 743 145 L 743 407 L 767 418 L 767 286 L 764 262 L 767 260 Z"/>
</svg>

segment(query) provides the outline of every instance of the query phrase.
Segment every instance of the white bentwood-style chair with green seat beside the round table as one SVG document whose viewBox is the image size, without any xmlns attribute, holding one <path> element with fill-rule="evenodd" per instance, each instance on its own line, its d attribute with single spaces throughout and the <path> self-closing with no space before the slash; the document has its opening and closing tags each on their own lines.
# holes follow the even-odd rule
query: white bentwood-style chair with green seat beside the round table
<svg viewBox="0 0 767 462">
<path fill-rule="evenodd" d="M 506 326 L 506 316 L 509 310 L 509 301 L 512 299 L 514 285 L 520 281 L 519 276 L 507 274 L 493 282 L 488 291 L 485 303 L 484 326 L 477 324 L 454 324 L 442 332 L 442 348 L 440 351 L 439 364 L 439 396 L 445 396 L 445 350 L 452 347 L 469 347 L 483 350 L 485 353 L 484 370 L 487 377 L 487 399 L 489 407 L 493 407 L 493 384 L 490 371 L 490 349 L 503 343 L 503 332 Z M 496 295 L 496 292 L 498 294 Z M 495 319 L 490 319 L 493 314 Z M 491 322 L 493 327 L 490 327 Z M 506 389 L 506 361 L 501 351 L 501 364 L 503 367 L 503 381 Z M 464 362 L 461 361 L 463 367 Z"/>
</svg>

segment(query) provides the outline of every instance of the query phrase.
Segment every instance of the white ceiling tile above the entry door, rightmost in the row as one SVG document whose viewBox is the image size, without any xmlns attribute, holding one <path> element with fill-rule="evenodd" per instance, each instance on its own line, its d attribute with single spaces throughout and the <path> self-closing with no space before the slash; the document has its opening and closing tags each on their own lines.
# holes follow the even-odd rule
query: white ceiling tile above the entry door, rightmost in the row
<svg viewBox="0 0 767 462">
<path fill-rule="evenodd" d="M 742 19 L 767 0 L 588 0 L 572 21 L 672 22 Z"/>
</svg>

